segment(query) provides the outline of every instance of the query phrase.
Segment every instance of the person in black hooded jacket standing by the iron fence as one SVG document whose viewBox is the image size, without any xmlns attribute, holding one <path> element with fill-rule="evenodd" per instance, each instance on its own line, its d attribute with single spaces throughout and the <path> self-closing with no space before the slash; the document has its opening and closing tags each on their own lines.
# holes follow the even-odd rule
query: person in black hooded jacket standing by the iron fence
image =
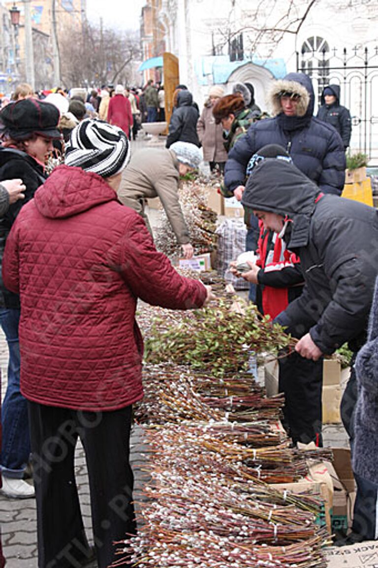
<svg viewBox="0 0 378 568">
<path fill-rule="evenodd" d="M 321 104 L 317 118 L 336 128 L 346 149 L 350 142 L 352 121 L 348 109 L 340 104 L 340 87 L 338 85 L 325 87 L 321 94 Z"/>
</svg>

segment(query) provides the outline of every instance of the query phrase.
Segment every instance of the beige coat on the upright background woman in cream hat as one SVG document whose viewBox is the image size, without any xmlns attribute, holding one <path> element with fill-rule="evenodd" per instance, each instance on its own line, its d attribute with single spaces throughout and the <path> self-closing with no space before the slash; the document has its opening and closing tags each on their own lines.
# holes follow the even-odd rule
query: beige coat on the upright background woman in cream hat
<svg viewBox="0 0 378 568">
<path fill-rule="evenodd" d="M 223 128 L 215 124 L 211 103 L 205 103 L 197 123 L 197 133 L 203 148 L 203 159 L 207 162 L 225 162 L 227 152 L 224 148 Z"/>
</svg>

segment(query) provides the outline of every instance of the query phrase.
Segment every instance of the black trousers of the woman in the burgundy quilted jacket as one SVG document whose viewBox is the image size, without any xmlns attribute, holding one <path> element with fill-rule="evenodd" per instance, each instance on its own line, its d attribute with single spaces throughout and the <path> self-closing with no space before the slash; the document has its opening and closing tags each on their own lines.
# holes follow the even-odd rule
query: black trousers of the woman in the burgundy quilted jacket
<svg viewBox="0 0 378 568">
<path fill-rule="evenodd" d="M 110 412 L 74 411 L 29 402 L 37 503 L 39 568 L 79 568 L 89 557 L 74 473 L 78 436 L 89 475 L 93 536 L 99 568 L 115 560 L 113 542 L 136 533 L 129 464 L 131 406 Z"/>
</svg>

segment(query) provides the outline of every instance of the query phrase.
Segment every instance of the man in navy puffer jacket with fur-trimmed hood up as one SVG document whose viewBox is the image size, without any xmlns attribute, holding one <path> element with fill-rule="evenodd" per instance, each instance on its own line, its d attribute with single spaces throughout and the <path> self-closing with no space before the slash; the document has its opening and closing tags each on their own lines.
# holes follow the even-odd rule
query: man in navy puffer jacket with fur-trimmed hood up
<svg viewBox="0 0 378 568">
<path fill-rule="evenodd" d="M 285 99 L 291 99 L 296 114 L 285 109 Z M 283 80 L 275 81 L 270 103 L 274 118 L 251 124 L 229 153 L 224 177 L 227 189 L 240 200 L 251 156 L 267 144 L 279 144 L 324 193 L 340 195 L 346 168 L 344 145 L 333 127 L 313 116 L 310 78 L 304 73 L 289 73 Z"/>
</svg>

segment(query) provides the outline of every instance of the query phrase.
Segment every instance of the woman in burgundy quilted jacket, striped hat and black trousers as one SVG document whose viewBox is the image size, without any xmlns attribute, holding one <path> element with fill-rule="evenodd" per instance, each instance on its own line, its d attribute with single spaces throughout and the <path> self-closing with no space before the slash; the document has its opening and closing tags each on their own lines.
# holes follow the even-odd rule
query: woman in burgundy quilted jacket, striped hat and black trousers
<svg viewBox="0 0 378 568">
<path fill-rule="evenodd" d="M 115 560 L 113 541 L 135 533 L 129 435 L 132 404 L 143 395 L 137 299 L 186 310 L 211 298 L 203 284 L 178 275 L 141 216 L 117 201 L 128 160 L 120 128 L 84 120 L 66 165 L 22 208 L 7 239 L 3 278 L 22 308 L 39 568 L 90 557 L 74 477 L 78 436 L 98 566 Z"/>
</svg>

